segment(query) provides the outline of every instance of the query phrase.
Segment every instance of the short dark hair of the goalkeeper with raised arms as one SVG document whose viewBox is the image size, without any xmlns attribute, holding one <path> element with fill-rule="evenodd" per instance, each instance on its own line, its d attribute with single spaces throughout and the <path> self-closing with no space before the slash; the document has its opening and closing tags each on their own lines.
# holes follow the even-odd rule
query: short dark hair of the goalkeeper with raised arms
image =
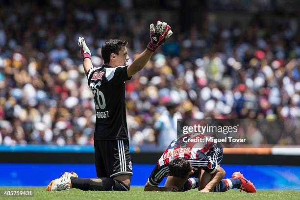
<svg viewBox="0 0 300 200">
<path fill-rule="evenodd" d="M 119 51 L 121 50 L 122 46 L 127 45 L 126 40 L 119 40 L 119 39 L 109 39 L 103 45 L 101 49 L 102 58 L 104 60 L 104 64 L 110 62 L 110 54 L 116 53 L 119 55 Z"/>
</svg>

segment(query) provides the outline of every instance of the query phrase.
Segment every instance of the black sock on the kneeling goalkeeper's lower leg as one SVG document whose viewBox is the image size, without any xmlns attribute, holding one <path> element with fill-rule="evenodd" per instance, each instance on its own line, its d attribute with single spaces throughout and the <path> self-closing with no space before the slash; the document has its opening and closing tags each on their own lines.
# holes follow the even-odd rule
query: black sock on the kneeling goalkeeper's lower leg
<svg viewBox="0 0 300 200">
<path fill-rule="evenodd" d="M 129 191 L 129 188 L 111 178 L 76 178 L 71 177 L 72 188 L 97 191 Z"/>
</svg>

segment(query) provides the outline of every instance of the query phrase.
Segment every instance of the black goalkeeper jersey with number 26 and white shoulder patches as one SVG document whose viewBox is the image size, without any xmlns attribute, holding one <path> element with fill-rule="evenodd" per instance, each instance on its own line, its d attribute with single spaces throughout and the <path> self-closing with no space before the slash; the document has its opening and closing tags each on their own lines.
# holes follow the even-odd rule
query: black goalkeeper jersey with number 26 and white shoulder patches
<svg viewBox="0 0 300 200">
<path fill-rule="evenodd" d="M 93 91 L 96 125 L 94 139 L 128 139 L 125 104 L 125 81 L 128 66 L 92 68 L 88 71 L 88 84 Z"/>
</svg>

